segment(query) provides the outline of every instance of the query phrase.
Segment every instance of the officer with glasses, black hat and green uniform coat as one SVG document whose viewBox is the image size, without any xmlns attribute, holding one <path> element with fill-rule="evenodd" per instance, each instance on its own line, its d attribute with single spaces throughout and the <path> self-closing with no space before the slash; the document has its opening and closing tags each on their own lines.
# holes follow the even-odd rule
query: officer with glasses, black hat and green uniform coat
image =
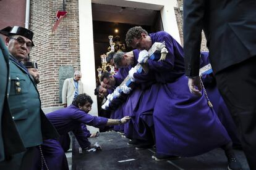
<svg viewBox="0 0 256 170">
<path fill-rule="evenodd" d="M 11 158 L 1 161 L 0 169 L 32 169 L 34 165 L 32 160 L 35 160 L 35 155 L 38 155 L 36 146 L 42 144 L 43 139 L 56 138 L 59 135 L 41 110 L 41 101 L 36 84 L 29 75 L 27 68 L 22 64 L 34 46 L 33 32 L 20 26 L 8 26 L 0 30 L 0 33 L 7 36 L 6 46 L 9 50 L 10 67 L 10 91 L 7 95 L 7 97 L 9 96 L 8 102 L 4 106 L 9 103 L 13 119 L 5 120 L 4 123 L 15 122 L 23 148 L 25 147 L 24 152 L 11 155 Z M 2 132 L 3 134 L 10 133 L 9 129 L 2 129 Z M 6 139 L 7 136 L 3 138 L 8 140 Z M 11 140 L 11 144 L 14 146 L 16 142 L 18 145 L 20 144 L 20 140 Z"/>
</svg>

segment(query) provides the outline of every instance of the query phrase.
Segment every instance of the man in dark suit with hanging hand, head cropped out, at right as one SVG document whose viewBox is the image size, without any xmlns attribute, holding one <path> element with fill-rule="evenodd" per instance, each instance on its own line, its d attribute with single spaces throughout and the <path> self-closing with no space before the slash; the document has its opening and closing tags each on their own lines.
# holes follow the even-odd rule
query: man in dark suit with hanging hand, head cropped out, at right
<svg viewBox="0 0 256 170">
<path fill-rule="evenodd" d="M 244 153 L 256 169 L 256 2 L 184 0 L 184 53 L 190 92 L 198 78 L 202 30 L 217 86 L 241 133 Z"/>
</svg>

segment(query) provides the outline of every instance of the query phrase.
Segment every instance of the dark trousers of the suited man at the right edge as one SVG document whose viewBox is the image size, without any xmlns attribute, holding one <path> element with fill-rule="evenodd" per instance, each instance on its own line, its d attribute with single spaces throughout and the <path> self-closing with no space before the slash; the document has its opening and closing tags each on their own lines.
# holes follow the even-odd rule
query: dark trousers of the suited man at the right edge
<svg viewBox="0 0 256 170">
<path fill-rule="evenodd" d="M 256 169 L 256 56 L 215 76 L 218 89 L 238 127 L 250 169 Z"/>
</svg>

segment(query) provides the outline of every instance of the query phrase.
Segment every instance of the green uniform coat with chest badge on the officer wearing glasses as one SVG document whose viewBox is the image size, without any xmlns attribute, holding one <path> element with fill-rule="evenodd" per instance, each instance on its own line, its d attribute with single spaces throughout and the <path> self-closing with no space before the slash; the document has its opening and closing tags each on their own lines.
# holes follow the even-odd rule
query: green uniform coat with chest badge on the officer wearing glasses
<svg viewBox="0 0 256 170">
<path fill-rule="evenodd" d="M 59 134 L 41 110 L 36 84 L 24 67 L 10 55 L 11 87 L 9 105 L 25 147 L 40 145 L 43 139 L 58 138 Z"/>
</svg>

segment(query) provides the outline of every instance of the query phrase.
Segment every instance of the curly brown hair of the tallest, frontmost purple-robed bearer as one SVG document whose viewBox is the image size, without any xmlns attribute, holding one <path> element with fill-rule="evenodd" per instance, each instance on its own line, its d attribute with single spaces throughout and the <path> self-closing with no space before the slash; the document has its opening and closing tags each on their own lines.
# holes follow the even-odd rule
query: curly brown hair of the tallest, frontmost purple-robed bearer
<svg viewBox="0 0 256 170">
<path fill-rule="evenodd" d="M 126 33 L 126 44 L 128 47 L 132 45 L 132 41 L 134 38 L 140 39 L 142 38 L 142 33 L 148 35 L 148 32 L 144 30 L 141 26 L 134 26 L 130 28 Z"/>
</svg>

